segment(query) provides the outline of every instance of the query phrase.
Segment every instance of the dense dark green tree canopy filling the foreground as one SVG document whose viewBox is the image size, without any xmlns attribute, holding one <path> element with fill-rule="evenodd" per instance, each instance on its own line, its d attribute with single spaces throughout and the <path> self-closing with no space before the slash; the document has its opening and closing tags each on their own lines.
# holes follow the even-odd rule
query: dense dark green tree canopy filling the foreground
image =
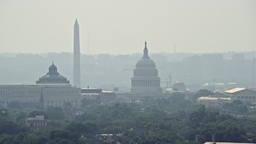
<svg viewBox="0 0 256 144">
<path fill-rule="evenodd" d="M 244 106 L 241 102 L 226 105 L 228 110 L 249 114 L 236 118 L 186 101 L 183 94 L 173 94 L 166 99 L 110 105 L 85 99 L 79 114 L 69 104 L 44 111 L 2 108 L 0 143 L 196 144 L 211 141 L 212 134 L 217 142 L 249 142 L 255 138 L 256 116 Z M 38 132 L 28 130 L 25 119 L 37 114 L 50 119 L 50 126 Z M 113 136 L 103 141 L 98 134 Z"/>
</svg>

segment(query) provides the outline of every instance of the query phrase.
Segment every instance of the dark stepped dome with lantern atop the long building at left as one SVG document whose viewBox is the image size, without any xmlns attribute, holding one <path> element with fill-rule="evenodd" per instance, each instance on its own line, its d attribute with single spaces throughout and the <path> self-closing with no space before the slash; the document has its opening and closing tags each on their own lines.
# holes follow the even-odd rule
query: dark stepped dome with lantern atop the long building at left
<svg viewBox="0 0 256 144">
<path fill-rule="evenodd" d="M 58 83 L 65 83 L 70 84 L 70 81 L 67 81 L 65 77 L 63 77 L 61 74 L 58 74 L 57 67 L 54 65 L 54 62 L 49 67 L 49 72 L 39 78 L 39 80 L 36 82 L 37 84 L 58 84 Z"/>
</svg>

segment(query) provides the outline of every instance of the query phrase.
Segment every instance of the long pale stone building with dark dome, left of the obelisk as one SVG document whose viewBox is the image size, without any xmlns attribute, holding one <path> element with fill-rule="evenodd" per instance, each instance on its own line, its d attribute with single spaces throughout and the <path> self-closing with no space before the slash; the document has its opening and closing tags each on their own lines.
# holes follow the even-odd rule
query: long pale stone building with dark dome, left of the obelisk
<svg viewBox="0 0 256 144">
<path fill-rule="evenodd" d="M 74 108 L 81 105 L 81 89 L 72 87 L 69 81 L 58 74 L 53 64 L 49 72 L 39 78 L 36 85 L 0 85 L 0 104 L 6 108 L 18 102 L 22 108 L 46 109 L 49 106 L 64 106 L 70 102 Z"/>
</svg>

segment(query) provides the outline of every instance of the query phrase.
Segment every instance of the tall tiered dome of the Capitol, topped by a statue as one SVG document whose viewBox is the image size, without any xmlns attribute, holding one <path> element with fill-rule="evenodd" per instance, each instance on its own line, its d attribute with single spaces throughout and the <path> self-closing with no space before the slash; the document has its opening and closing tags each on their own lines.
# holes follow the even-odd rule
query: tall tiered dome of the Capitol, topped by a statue
<svg viewBox="0 0 256 144">
<path fill-rule="evenodd" d="M 138 60 L 134 69 L 134 77 L 131 78 L 132 93 L 162 93 L 158 70 L 152 59 L 148 56 L 146 47 L 143 56 Z"/>
</svg>

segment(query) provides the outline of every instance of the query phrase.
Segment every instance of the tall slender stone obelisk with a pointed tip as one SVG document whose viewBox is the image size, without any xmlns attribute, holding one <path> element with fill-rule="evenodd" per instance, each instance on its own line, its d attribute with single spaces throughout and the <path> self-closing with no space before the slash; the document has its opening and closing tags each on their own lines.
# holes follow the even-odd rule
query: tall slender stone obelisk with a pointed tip
<svg viewBox="0 0 256 144">
<path fill-rule="evenodd" d="M 79 25 L 78 20 L 74 22 L 74 86 L 81 86 L 80 78 L 80 43 L 79 43 Z"/>
</svg>

